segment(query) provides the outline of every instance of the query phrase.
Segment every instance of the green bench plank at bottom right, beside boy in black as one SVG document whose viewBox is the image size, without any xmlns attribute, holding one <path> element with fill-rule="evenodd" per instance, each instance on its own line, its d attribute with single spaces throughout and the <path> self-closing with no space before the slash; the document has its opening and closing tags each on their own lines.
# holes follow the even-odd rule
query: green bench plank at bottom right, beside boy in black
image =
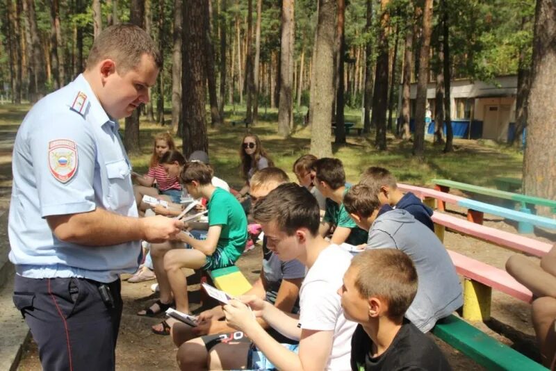
<svg viewBox="0 0 556 371">
<path fill-rule="evenodd" d="M 455 315 L 436 322 L 432 333 L 487 370 L 547 370 Z"/>
</svg>

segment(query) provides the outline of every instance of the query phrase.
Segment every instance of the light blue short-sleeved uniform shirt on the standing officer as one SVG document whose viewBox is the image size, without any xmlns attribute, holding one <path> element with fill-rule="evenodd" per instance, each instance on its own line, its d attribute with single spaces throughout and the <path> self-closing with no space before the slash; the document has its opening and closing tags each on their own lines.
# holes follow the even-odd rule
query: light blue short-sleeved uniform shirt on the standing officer
<svg viewBox="0 0 556 371">
<path fill-rule="evenodd" d="M 137 269 L 139 241 L 102 247 L 63 242 L 45 219 L 97 207 L 137 216 L 131 165 L 118 127 L 83 75 L 28 112 L 13 150 L 8 234 L 17 274 L 108 283 Z"/>
</svg>

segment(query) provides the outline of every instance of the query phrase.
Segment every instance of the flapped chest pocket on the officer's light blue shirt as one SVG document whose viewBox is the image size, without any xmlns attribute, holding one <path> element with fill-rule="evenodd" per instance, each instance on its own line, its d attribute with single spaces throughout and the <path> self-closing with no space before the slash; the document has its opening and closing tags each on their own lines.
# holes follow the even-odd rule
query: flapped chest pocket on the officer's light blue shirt
<svg viewBox="0 0 556 371">
<path fill-rule="evenodd" d="M 125 159 L 109 161 L 106 166 L 108 177 L 108 206 L 113 211 L 129 208 L 135 203 L 133 187 L 131 186 L 131 169 Z"/>
</svg>

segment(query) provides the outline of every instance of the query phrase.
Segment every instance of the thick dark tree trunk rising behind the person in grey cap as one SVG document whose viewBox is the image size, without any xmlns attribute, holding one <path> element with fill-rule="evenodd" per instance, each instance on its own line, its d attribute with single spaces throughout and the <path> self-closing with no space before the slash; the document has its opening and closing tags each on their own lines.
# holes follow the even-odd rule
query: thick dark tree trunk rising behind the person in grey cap
<svg viewBox="0 0 556 371">
<path fill-rule="evenodd" d="M 188 0 L 183 9 L 183 154 L 208 153 L 206 136 L 206 76 L 204 69 L 204 19 L 206 0 Z"/>
</svg>

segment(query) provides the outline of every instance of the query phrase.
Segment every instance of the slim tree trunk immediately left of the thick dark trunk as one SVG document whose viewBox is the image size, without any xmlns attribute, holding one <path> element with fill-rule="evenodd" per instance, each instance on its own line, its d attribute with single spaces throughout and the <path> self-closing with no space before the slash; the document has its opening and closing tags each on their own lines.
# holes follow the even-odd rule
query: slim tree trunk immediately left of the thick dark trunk
<svg viewBox="0 0 556 371">
<path fill-rule="evenodd" d="M 174 0 L 174 30 L 172 31 L 172 132 L 181 133 L 183 127 L 181 117 L 181 38 L 183 32 L 183 3 Z"/>
</svg>

